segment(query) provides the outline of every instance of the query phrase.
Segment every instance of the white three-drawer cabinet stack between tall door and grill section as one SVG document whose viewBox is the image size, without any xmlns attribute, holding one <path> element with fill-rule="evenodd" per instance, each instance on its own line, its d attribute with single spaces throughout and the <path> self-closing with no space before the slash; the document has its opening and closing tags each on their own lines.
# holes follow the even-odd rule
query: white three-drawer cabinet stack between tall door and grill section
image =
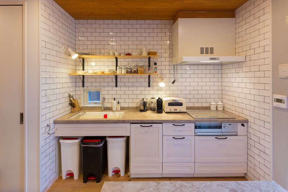
<svg viewBox="0 0 288 192">
<path fill-rule="evenodd" d="M 193 177 L 194 123 L 163 123 L 162 177 Z"/>
</svg>

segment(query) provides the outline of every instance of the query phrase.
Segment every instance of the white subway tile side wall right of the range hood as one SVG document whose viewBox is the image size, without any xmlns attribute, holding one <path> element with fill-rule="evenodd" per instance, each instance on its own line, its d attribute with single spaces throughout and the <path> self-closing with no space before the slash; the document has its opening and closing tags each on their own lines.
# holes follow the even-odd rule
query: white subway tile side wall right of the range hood
<svg viewBox="0 0 288 192">
<path fill-rule="evenodd" d="M 246 62 L 223 65 L 224 109 L 248 123 L 246 177 L 270 180 L 270 1 L 250 0 L 236 10 L 236 55 Z"/>
</svg>

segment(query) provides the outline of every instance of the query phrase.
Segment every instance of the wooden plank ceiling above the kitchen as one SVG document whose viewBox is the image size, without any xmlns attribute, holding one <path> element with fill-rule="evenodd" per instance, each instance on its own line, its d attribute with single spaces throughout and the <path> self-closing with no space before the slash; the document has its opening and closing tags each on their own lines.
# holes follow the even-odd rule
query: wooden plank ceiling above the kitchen
<svg viewBox="0 0 288 192">
<path fill-rule="evenodd" d="M 234 17 L 234 11 L 248 0 L 54 1 L 77 20 L 173 20 L 176 15 L 177 18 Z"/>
</svg>

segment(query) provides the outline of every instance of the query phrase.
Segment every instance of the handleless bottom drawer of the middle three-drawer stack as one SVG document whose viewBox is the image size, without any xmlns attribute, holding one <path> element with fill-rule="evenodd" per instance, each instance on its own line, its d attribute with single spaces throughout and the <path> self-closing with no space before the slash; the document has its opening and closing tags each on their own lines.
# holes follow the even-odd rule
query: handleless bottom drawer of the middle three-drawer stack
<svg viewBox="0 0 288 192">
<path fill-rule="evenodd" d="M 162 173 L 194 173 L 194 163 L 163 163 Z"/>
</svg>

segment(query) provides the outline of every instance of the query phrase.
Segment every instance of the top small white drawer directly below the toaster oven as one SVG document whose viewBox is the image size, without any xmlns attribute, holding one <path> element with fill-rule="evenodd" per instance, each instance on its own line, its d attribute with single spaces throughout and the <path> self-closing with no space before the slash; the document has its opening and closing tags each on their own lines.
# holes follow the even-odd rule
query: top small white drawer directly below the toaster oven
<svg viewBox="0 0 288 192">
<path fill-rule="evenodd" d="M 194 135 L 194 123 L 163 123 L 163 135 Z"/>
</svg>

